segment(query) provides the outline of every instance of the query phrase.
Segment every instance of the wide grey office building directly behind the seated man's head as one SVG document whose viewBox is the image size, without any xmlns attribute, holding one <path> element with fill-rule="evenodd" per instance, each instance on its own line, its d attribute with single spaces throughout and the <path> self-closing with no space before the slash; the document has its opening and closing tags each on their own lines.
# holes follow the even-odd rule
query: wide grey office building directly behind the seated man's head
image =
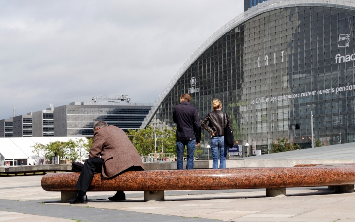
<svg viewBox="0 0 355 222">
<path fill-rule="evenodd" d="M 127 131 L 139 129 L 152 104 L 117 102 L 72 102 L 54 108 L 54 136 L 94 135 L 98 120 Z"/>
</svg>

